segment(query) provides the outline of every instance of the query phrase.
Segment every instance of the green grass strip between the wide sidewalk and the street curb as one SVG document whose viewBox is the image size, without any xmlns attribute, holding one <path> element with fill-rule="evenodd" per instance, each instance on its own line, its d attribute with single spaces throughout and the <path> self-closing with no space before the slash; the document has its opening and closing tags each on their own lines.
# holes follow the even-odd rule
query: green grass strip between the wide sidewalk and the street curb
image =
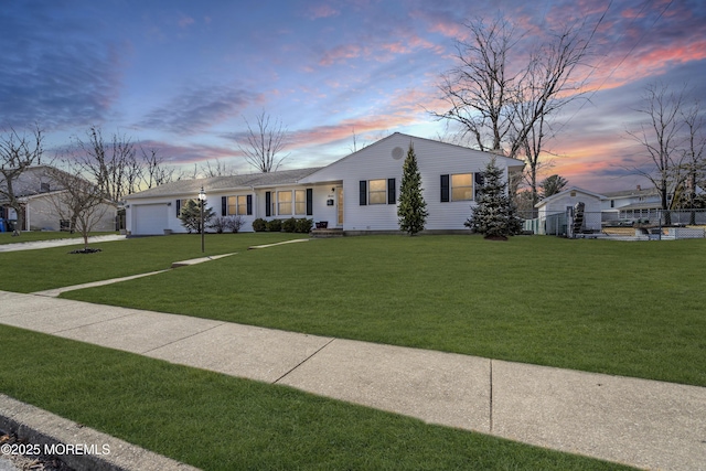
<svg viewBox="0 0 706 471">
<path fill-rule="evenodd" d="M 3 393 L 204 470 L 628 469 L 6 325 L 0 345 Z"/>
</svg>

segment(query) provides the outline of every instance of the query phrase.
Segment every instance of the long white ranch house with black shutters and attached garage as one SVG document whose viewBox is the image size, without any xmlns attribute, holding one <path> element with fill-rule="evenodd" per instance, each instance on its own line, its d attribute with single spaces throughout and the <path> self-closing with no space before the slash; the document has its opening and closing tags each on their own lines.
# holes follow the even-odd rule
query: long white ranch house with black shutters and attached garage
<svg viewBox="0 0 706 471">
<path fill-rule="evenodd" d="M 180 207 L 203 186 L 217 215 L 243 216 L 243 231 L 252 231 L 259 217 L 308 217 L 346 232 L 398 231 L 402 167 L 410 144 L 429 213 L 427 231 L 468 231 L 463 223 L 475 204 L 480 173 L 493 157 L 505 179 L 524 167 L 516 159 L 395 132 L 323 168 L 179 181 L 128 195 L 127 229 L 185 232 Z"/>
</svg>

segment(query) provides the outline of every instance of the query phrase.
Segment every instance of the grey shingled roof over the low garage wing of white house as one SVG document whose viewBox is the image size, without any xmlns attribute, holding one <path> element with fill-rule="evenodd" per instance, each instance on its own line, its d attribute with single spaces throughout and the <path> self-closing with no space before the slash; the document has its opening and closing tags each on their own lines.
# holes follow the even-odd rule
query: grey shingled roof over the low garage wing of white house
<svg viewBox="0 0 706 471">
<path fill-rule="evenodd" d="M 281 186 L 295 184 L 302 178 L 310 175 L 320 168 L 280 170 L 268 173 L 248 173 L 244 175 L 211 176 L 207 179 L 179 180 L 153 189 L 145 190 L 125 196 L 125 200 L 159 196 L 183 196 L 193 194 L 194 197 L 203 186 L 204 191 L 249 190 L 255 188 Z"/>
</svg>

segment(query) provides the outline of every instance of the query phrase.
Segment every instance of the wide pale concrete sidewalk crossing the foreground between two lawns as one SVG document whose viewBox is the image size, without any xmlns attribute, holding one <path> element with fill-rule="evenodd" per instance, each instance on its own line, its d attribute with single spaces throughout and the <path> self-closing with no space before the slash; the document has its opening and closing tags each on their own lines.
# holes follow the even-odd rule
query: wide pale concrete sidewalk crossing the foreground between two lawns
<svg viewBox="0 0 706 471">
<path fill-rule="evenodd" d="M 0 323 L 646 469 L 706 470 L 706 388 L 0 291 Z"/>
</svg>

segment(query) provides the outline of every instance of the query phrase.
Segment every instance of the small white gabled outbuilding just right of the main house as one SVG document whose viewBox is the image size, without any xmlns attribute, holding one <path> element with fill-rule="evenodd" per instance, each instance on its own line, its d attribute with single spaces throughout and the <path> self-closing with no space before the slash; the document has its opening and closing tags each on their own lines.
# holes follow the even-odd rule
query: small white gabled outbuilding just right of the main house
<svg viewBox="0 0 706 471">
<path fill-rule="evenodd" d="M 600 231 L 601 203 L 603 195 L 593 193 L 578 186 L 571 186 L 559 193 L 553 194 L 535 205 L 538 221 L 544 226 L 534 229 L 537 234 L 555 234 L 565 231 L 568 208 L 574 208 L 577 203 L 584 203 L 584 231 Z"/>
</svg>

